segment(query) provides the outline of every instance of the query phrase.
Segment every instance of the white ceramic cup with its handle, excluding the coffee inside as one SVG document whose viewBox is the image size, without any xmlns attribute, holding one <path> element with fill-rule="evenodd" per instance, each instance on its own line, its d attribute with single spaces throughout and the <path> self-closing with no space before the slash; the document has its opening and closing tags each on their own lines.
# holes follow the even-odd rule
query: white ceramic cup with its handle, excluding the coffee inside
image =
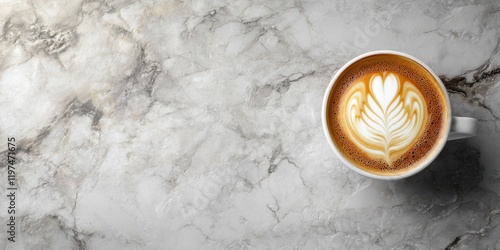
<svg viewBox="0 0 500 250">
<path fill-rule="evenodd" d="M 403 179 L 403 178 L 412 176 L 412 175 L 414 175 L 414 174 L 422 171 L 427 166 L 429 166 L 429 164 L 439 155 L 439 153 L 443 149 L 443 147 L 444 147 L 444 145 L 445 145 L 445 143 L 446 143 L 447 140 L 439 140 L 439 142 L 437 142 L 437 143 L 439 143 L 440 145 L 437 145 L 436 149 L 434 149 L 433 155 L 429 156 L 428 159 L 426 161 L 422 162 L 420 165 L 413 167 L 410 171 L 401 173 L 399 175 L 388 175 L 388 176 L 377 175 L 377 174 L 373 174 L 373 173 L 367 172 L 367 171 L 365 171 L 365 170 L 363 170 L 361 168 L 358 168 L 356 165 L 354 165 L 353 163 L 351 163 L 347 158 L 345 158 L 343 156 L 343 154 L 340 152 L 340 150 L 338 149 L 338 147 L 335 145 L 335 143 L 334 143 L 334 141 L 333 141 L 333 139 L 332 139 L 332 137 L 330 135 L 330 132 L 328 130 L 328 125 L 327 125 L 327 120 L 326 120 L 327 119 L 328 99 L 329 99 L 332 87 L 335 84 L 335 82 L 337 81 L 338 77 L 342 74 L 342 72 L 344 72 L 349 66 L 351 66 L 355 62 L 357 62 L 357 61 L 359 61 L 359 60 L 361 60 L 361 59 L 363 59 L 365 57 L 373 56 L 373 55 L 378 55 L 378 54 L 392 54 L 392 55 L 398 55 L 398 56 L 409 58 L 409 59 L 417 62 L 418 64 L 420 64 L 422 67 L 424 67 L 425 69 L 427 69 L 432 74 L 432 76 L 439 83 L 439 86 L 443 90 L 443 93 L 445 93 L 445 101 L 446 101 L 446 107 L 447 107 L 447 111 L 446 112 L 448 113 L 447 117 L 451 118 L 451 119 L 449 119 L 448 123 L 445 125 L 446 126 L 445 130 L 448 131 L 448 137 L 446 138 L 448 141 L 449 140 L 455 140 L 455 139 L 461 139 L 461 138 L 467 138 L 467 137 L 474 136 L 476 134 L 476 129 L 477 129 L 477 120 L 474 119 L 474 118 L 470 118 L 470 117 L 452 117 L 451 116 L 450 100 L 449 100 L 449 97 L 448 97 L 448 94 L 447 94 L 447 91 L 446 91 L 446 88 L 445 88 L 443 82 L 429 68 L 429 66 L 427 66 L 425 63 L 423 63 L 422 61 L 420 61 L 419 59 L 417 59 L 417 58 L 415 58 L 413 56 L 410 56 L 408 54 L 405 54 L 405 53 L 402 53 L 402 52 L 398 52 L 398 51 L 378 50 L 378 51 L 372 51 L 372 52 L 368 52 L 368 53 L 362 54 L 360 56 L 357 56 L 354 59 L 350 60 L 348 63 L 346 63 L 333 76 L 332 80 L 330 81 L 330 84 L 328 84 L 328 88 L 326 89 L 325 96 L 323 98 L 322 119 L 323 119 L 323 131 L 325 132 L 326 139 L 328 140 L 328 143 L 330 144 L 330 147 L 333 149 L 333 152 L 335 152 L 335 154 L 337 155 L 337 157 L 344 163 L 344 165 L 346 165 L 350 169 L 354 170 L 355 172 L 357 172 L 357 173 L 359 173 L 361 175 L 367 176 L 367 177 L 375 178 L 375 179 L 398 180 L 398 179 Z"/>
</svg>

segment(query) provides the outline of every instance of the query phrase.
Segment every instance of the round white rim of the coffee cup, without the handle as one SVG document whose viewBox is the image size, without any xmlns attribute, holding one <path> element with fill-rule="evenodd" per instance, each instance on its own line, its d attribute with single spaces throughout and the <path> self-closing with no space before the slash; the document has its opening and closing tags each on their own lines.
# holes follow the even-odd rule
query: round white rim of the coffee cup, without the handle
<svg viewBox="0 0 500 250">
<path fill-rule="evenodd" d="M 359 60 L 361 60 L 363 58 L 366 58 L 366 57 L 369 57 L 369 56 L 380 55 L 380 54 L 390 54 L 390 55 L 402 56 L 402 57 L 411 59 L 411 60 L 417 62 L 418 64 L 420 64 L 422 67 L 424 67 L 427 71 L 429 71 L 431 73 L 431 75 L 439 83 L 439 86 L 441 87 L 441 90 L 444 93 L 444 99 L 445 99 L 446 107 L 447 107 L 447 111 L 446 112 L 447 112 L 448 121 L 446 122 L 446 129 L 445 129 L 446 134 L 445 134 L 444 138 L 439 142 L 440 145 L 438 145 L 434 149 L 434 154 L 431 155 L 431 156 L 429 156 L 429 158 L 427 160 L 425 160 L 423 163 L 421 163 L 420 166 L 417 166 L 417 167 L 413 168 L 412 170 L 410 170 L 408 172 L 404 172 L 404 173 L 402 173 L 400 175 L 377 175 L 377 174 L 373 174 L 373 173 L 365 171 L 365 170 L 363 170 L 361 168 L 356 167 L 353 163 L 351 163 L 348 159 L 346 159 L 346 157 L 343 156 L 342 153 L 340 152 L 340 150 L 335 146 L 335 143 L 333 142 L 333 138 L 330 135 L 330 131 L 328 129 L 328 124 L 327 124 L 327 119 L 326 119 L 327 118 L 327 113 L 326 113 L 326 111 L 327 111 L 327 104 L 328 104 L 328 99 L 330 97 L 330 92 L 331 92 L 331 90 L 332 90 L 332 88 L 333 88 L 333 86 L 335 84 L 335 81 L 338 79 L 338 77 L 340 76 L 340 74 L 342 72 L 344 72 L 349 66 L 351 66 L 354 63 L 356 63 Z M 424 170 L 427 166 L 429 166 L 430 163 L 433 162 L 436 159 L 436 157 L 439 155 L 439 153 L 443 150 L 443 147 L 446 144 L 446 141 L 447 141 L 449 133 L 450 133 L 451 121 L 452 121 L 449 95 L 448 95 L 448 92 L 446 91 L 446 87 L 444 86 L 444 84 L 441 81 L 441 79 L 436 75 L 436 73 L 434 73 L 434 71 L 432 71 L 432 69 L 427 64 L 425 64 L 424 62 L 422 62 L 418 58 L 416 58 L 416 57 L 414 57 L 412 55 L 406 54 L 404 52 L 394 51 L 394 50 L 375 50 L 375 51 L 370 51 L 370 52 L 358 55 L 358 56 L 354 57 L 353 59 L 349 60 L 346 64 L 344 64 L 334 74 L 334 76 L 330 80 L 330 83 L 328 84 L 328 87 L 326 88 L 325 95 L 323 97 L 323 106 L 322 106 L 322 114 L 321 115 L 322 115 L 323 132 L 324 132 L 324 134 L 325 134 L 325 136 L 327 138 L 327 141 L 328 141 L 328 144 L 330 145 L 330 148 L 333 150 L 333 152 L 335 153 L 335 155 L 337 156 L 337 158 L 339 158 L 341 160 L 341 162 L 345 166 L 347 166 L 351 170 L 357 172 L 358 174 L 361 174 L 363 176 L 370 177 L 370 178 L 373 178 L 373 179 L 379 179 L 379 180 L 399 180 L 399 179 L 404 179 L 404 178 L 410 177 L 410 176 L 412 176 L 412 175 L 414 175 L 414 174 L 416 174 L 416 173 Z"/>
</svg>

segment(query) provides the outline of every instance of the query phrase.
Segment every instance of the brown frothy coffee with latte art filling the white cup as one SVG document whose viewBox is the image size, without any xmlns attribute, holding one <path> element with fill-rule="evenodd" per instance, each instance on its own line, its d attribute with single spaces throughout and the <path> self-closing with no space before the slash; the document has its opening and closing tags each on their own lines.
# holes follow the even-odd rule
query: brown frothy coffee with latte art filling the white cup
<svg viewBox="0 0 500 250">
<path fill-rule="evenodd" d="M 353 165 L 399 175 L 434 155 L 446 139 L 445 95 L 417 62 L 392 54 L 368 56 L 336 79 L 327 105 L 328 130 Z"/>
</svg>

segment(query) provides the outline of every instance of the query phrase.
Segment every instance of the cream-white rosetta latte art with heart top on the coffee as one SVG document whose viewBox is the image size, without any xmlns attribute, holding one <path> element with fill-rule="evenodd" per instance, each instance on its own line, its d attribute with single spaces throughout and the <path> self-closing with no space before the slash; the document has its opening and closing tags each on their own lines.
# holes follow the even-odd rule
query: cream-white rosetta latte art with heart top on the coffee
<svg viewBox="0 0 500 250">
<path fill-rule="evenodd" d="M 394 73 L 375 73 L 366 79 L 344 95 L 343 127 L 360 149 L 392 166 L 424 131 L 427 107 L 415 85 L 402 83 Z"/>
</svg>

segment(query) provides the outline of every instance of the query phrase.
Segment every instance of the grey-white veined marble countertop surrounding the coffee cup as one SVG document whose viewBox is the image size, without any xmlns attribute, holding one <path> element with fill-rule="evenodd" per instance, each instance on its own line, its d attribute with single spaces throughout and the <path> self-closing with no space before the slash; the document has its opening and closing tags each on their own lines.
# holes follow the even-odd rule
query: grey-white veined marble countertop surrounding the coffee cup
<svg viewBox="0 0 500 250">
<path fill-rule="evenodd" d="M 0 6 L 0 249 L 500 249 L 498 1 Z M 332 75 L 377 49 L 479 120 L 401 181 L 347 169 L 321 127 Z"/>
</svg>

